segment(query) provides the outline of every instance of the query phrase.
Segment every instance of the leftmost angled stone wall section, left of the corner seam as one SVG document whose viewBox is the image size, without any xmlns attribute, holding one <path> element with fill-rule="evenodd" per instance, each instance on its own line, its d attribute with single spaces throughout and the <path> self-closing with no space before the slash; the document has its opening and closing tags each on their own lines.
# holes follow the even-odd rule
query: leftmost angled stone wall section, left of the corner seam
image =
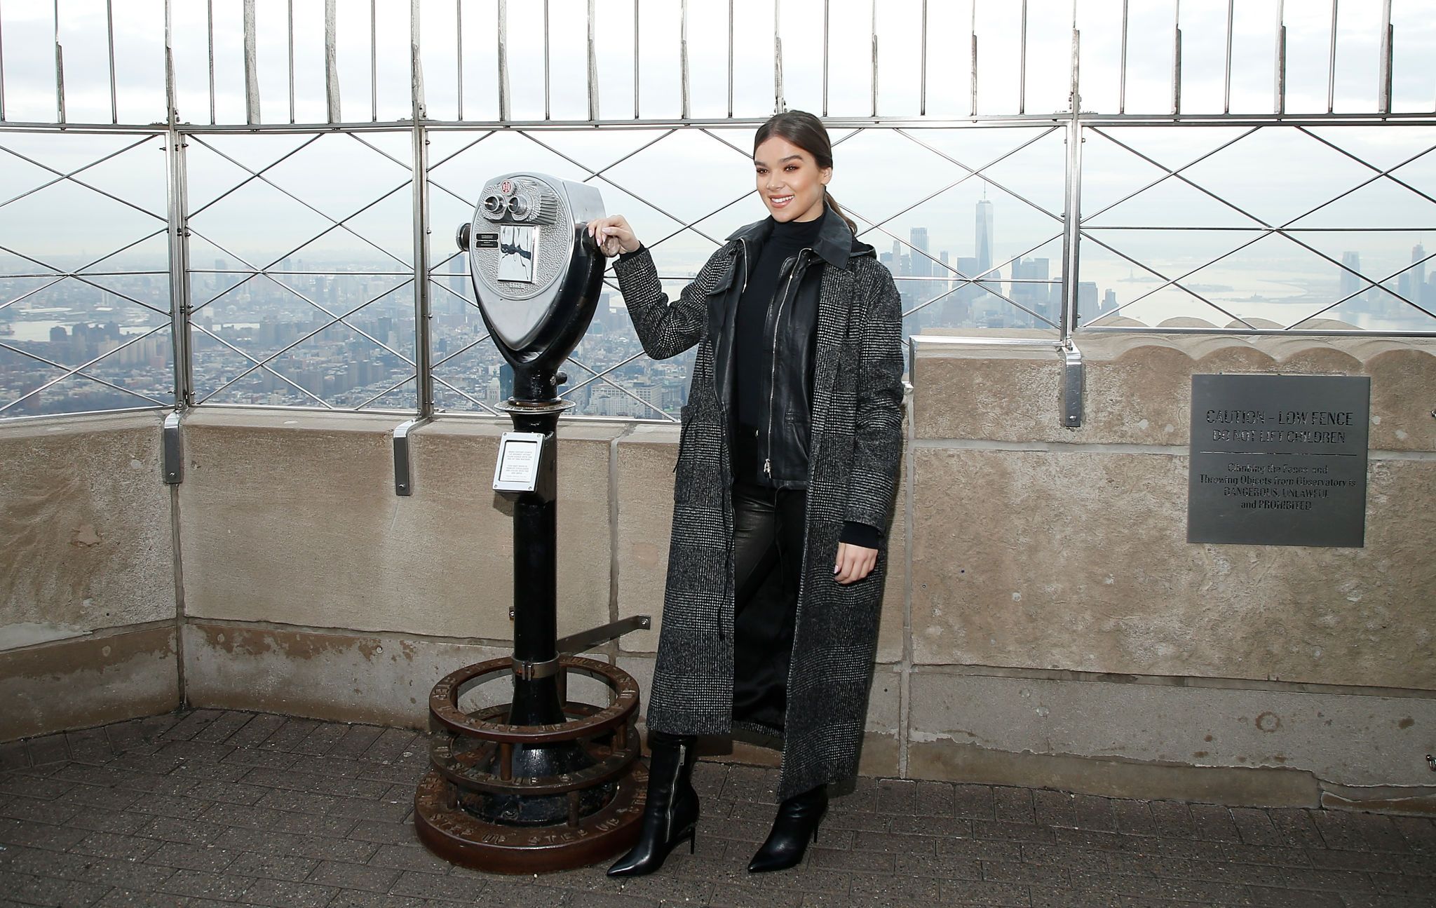
<svg viewBox="0 0 1436 908">
<path fill-rule="evenodd" d="M 180 704 L 152 412 L 0 430 L 0 740 Z"/>
</svg>

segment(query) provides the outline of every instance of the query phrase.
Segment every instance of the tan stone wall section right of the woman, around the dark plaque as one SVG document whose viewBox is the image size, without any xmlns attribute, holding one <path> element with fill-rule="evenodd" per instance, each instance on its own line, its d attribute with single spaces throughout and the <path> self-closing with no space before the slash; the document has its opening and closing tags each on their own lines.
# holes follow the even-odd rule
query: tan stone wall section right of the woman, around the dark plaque
<svg viewBox="0 0 1436 908">
<path fill-rule="evenodd" d="M 1436 345 L 1078 345 L 1084 424 L 1068 430 L 1054 351 L 919 342 L 908 772 L 1146 779 L 1133 795 L 1216 779 L 1251 800 L 1234 773 L 1281 767 L 1272 784 L 1297 802 L 1404 786 L 1429 807 Z M 1211 372 L 1371 378 L 1364 547 L 1186 542 L 1190 376 Z"/>
</svg>

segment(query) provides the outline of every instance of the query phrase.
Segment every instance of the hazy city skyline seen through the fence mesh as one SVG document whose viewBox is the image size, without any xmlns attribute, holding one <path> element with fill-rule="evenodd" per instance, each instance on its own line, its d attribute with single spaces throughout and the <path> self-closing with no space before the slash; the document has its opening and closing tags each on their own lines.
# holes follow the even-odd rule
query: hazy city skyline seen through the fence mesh
<svg viewBox="0 0 1436 908">
<path fill-rule="evenodd" d="M 975 201 L 972 223 L 971 256 L 961 249 L 932 250 L 926 226 L 913 226 L 906 243 L 895 240 L 892 251 L 880 254 L 898 279 L 903 309 L 910 312 L 906 330 L 961 333 L 962 329 L 1047 328 L 1043 319 L 1057 322 L 1060 269 L 1054 274 L 1051 259 L 1044 256 L 991 261 L 991 250 L 1001 236 L 1001 221 L 991 200 Z M 1340 260 L 1348 269 L 1361 270 L 1357 250 L 1341 251 Z M 1425 244 L 1416 243 L 1410 247 L 1412 267 L 1383 286 L 1417 306 L 1436 300 L 1436 272 L 1427 277 L 1425 261 Z M 412 407 L 411 279 L 402 273 L 381 273 L 372 267 L 373 260 L 314 261 L 292 256 L 277 261 L 267 274 L 231 267 L 224 257 L 207 264 L 213 267 L 190 273 L 197 305 L 191 345 L 198 398 L 230 404 L 323 405 L 323 401 L 333 407 Z M 985 276 L 965 283 L 959 274 Z M 669 292 L 676 295 L 682 279 L 671 277 L 676 280 L 669 282 Z M 40 358 L 27 359 L 0 348 L 4 353 L 0 358 L 0 405 L 33 391 L 57 368 L 76 368 L 95 359 L 99 363 L 86 372 L 108 382 L 75 376 L 4 415 L 162 402 L 172 381 L 169 319 L 162 310 L 134 302 L 162 290 L 165 279 L 158 270 L 108 276 L 103 280 L 121 282 L 112 290 L 66 279 L 27 295 L 17 284 L 40 279 L 0 276 L 0 302 L 6 303 L 0 309 L 0 345 Z M 1117 280 L 1133 286 L 1123 290 L 1111 282 L 1080 282 L 1081 320 L 1099 318 L 1101 323 L 1113 313 L 1124 318 L 1122 303 L 1140 295 L 1144 283 L 1156 283 L 1156 279 L 1139 279 L 1134 266 Z M 471 302 L 472 287 L 462 256 L 437 263 L 432 282 L 438 405 L 482 411 L 507 394 L 504 363 L 493 345 L 482 340 L 487 332 Z M 1346 315 L 1357 328 L 1361 319 L 1399 319 L 1407 309 L 1391 293 L 1367 284 L 1338 270 L 1328 286 L 1307 293 L 1310 299 L 1264 300 L 1252 295 L 1248 302 L 1315 310 L 1350 297 L 1338 315 Z M 1212 295 L 1234 290 L 1200 282 L 1188 286 Z M 343 320 L 336 320 L 340 316 Z M 1267 326 L 1259 316 L 1251 318 L 1254 326 Z M 108 352 L 112 353 L 105 356 Z M 577 404 L 574 412 L 639 418 L 675 415 L 686 402 L 688 358 L 653 362 L 636 356 L 638 352 L 622 297 L 606 289 L 593 326 L 574 351 L 577 368 L 570 372 L 573 384 L 583 385 L 569 394 Z M 267 359 L 270 356 L 274 359 Z M 258 366 L 257 361 L 267 362 Z M 617 386 L 590 379 L 589 369 L 602 372 L 625 361 L 632 362 L 609 375 Z"/>
</svg>

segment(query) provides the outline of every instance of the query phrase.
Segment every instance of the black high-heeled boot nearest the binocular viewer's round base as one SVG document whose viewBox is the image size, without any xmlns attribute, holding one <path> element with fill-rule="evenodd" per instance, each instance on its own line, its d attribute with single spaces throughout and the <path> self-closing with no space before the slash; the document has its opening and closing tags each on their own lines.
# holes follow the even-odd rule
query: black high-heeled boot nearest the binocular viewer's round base
<svg viewBox="0 0 1436 908">
<path fill-rule="evenodd" d="M 694 790 L 694 744 L 691 734 L 648 734 L 648 803 L 643 828 L 629 853 L 609 868 L 609 876 L 642 876 L 663 866 L 668 852 L 688 840 L 694 851 L 698 825 L 698 792 Z"/>
</svg>

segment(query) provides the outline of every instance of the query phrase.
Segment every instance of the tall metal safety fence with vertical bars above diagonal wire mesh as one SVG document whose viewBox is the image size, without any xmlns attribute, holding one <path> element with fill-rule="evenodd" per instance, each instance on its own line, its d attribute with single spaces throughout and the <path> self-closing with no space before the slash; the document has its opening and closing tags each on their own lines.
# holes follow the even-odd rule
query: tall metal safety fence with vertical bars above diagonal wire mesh
<svg viewBox="0 0 1436 908">
<path fill-rule="evenodd" d="M 597 185 L 676 293 L 763 217 L 775 109 L 829 124 L 910 336 L 1436 336 L 1432 11 L 0 0 L 0 418 L 493 412 L 449 238 L 482 181 Z M 686 394 L 613 280 L 570 366 L 579 414 Z"/>
</svg>

